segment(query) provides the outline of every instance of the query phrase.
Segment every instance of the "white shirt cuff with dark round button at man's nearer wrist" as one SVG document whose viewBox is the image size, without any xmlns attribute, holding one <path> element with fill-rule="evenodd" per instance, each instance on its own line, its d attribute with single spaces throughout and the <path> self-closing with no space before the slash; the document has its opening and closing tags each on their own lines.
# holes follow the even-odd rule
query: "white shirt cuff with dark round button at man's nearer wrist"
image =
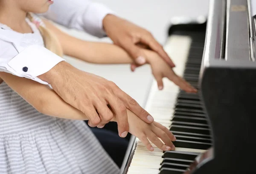
<svg viewBox="0 0 256 174">
<path fill-rule="evenodd" d="M 65 60 L 43 46 L 32 45 L 12 58 L 8 65 L 20 77 L 30 78 L 41 84 L 48 84 L 37 76 L 47 73 L 61 61 Z"/>
</svg>

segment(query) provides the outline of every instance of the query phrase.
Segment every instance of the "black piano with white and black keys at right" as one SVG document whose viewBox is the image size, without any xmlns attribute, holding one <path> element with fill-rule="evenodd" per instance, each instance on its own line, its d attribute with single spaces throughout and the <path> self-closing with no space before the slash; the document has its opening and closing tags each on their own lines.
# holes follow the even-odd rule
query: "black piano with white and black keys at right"
<svg viewBox="0 0 256 174">
<path fill-rule="evenodd" d="M 175 23 L 166 52 L 198 88 L 153 81 L 145 109 L 176 136 L 175 151 L 131 137 L 121 174 L 255 174 L 256 18 L 250 0 L 210 0 L 207 20 Z"/>
</svg>

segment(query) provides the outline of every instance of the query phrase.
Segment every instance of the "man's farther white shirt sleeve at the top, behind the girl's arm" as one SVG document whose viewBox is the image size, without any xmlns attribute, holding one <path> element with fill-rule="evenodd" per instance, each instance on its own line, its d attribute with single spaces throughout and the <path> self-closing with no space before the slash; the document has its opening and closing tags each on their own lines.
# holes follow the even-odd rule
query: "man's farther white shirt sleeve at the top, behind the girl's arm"
<svg viewBox="0 0 256 174">
<path fill-rule="evenodd" d="M 42 14 L 67 28 L 83 30 L 99 38 L 105 31 L 102 20 L 107 14 L 115 14 L 111 9 L 90 0 L 55 0 L 48 12 Z"/>
</svg>

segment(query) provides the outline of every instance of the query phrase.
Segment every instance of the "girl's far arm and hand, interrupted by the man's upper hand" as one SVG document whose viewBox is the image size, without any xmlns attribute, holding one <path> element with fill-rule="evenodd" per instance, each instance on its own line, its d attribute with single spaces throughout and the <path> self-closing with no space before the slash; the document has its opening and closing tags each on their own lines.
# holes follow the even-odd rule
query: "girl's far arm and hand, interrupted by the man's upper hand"
<svg viewBox="0 0 256 174">
<path fill-rule="evenodd" d="M 57 35 L 64 50 L 64 54 L 66 55 L 97 64 L 130 64 L 133 62 L 133 59 L 127 52 L 119 46 L 107 43 L 82 41 L 67 35 L 47 20 L 44 20 L 44 23 L 47 28 L 51 29 L 52 32 Z M 172 68 L 166 64 L 156 52 L 148 49 L 143 49 L 143 51 L 146 55 L 147 63 L 151 65 L 152 73 L 157 80 L 160 90 L 163 89 L 162 78 L 167 77 L 182 90 L 187 92 L 197 91 L 183 78 L 176 75 Z"/>
</svg>

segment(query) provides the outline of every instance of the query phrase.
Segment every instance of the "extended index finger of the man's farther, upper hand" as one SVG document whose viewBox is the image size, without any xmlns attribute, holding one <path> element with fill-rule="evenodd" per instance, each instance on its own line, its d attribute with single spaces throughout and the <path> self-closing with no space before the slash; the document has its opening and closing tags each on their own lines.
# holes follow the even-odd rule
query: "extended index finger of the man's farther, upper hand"
<svg viewBox="0 0 256 174">
<path fill-rule="evenodd" d="M 152 35 L 141 38 L 143 44 L 147 44 L 152 50 L 157 52 L 171 67 L 175 67 L 175 64 L 172 62 L 171 58 L 164 51 L 163 46 L 161 46 Z"/>
</svg>

